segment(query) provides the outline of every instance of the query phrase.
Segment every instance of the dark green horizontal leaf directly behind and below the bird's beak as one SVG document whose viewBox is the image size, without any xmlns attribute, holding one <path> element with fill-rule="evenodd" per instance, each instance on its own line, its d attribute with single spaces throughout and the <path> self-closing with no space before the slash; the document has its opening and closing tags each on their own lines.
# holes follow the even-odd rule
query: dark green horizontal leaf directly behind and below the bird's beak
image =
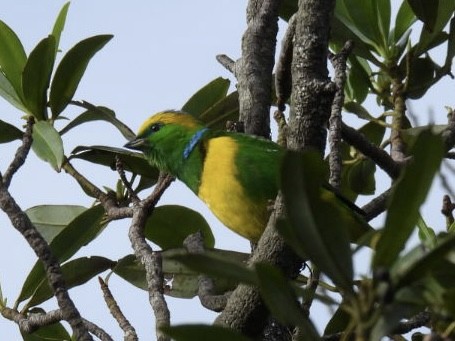
<svg viewBox="0 0 455 341">
<path fill-rule="evenodd" d="M 126 171 L 158 179 L 158 169 L 151 166 L 142 153 L 107 146 L 79 146 L 71 152 L 70 159 L 82 159 L 115 170 L 115 157 L 122 161 Z"/>
</svg>

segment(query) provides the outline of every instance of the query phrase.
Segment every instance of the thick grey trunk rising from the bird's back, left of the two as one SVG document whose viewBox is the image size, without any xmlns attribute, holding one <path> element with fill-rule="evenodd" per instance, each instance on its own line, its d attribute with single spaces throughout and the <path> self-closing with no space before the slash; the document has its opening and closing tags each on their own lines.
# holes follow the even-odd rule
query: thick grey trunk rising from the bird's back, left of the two
<svg viewBox="0 0 455 341">
<path fill-rule="evenodd" d="M 249 0 L 238 80 L 240 121 L 247 134 L 270 138 L 272 70 L 275 63 L 279 0 Z"/>
</svg>

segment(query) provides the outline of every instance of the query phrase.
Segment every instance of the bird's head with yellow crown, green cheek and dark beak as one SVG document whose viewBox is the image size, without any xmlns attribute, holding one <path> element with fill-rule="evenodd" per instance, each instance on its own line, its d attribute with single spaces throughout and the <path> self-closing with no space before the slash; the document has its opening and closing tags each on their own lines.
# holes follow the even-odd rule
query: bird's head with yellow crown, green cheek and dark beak
<svg viewBox="0 0 455 341">
<path fill-rule="evenodd" d="M 142 151 L 158 168 L 176 172 L 191 153 L 192 141 L 204 125 L 192 115 L 180 111 L 163 111 L 149 117 L 139 128 L 136 138 L 125 147 Z M 202 134 L 201 134 L 202 135 Z"/>
</svg>

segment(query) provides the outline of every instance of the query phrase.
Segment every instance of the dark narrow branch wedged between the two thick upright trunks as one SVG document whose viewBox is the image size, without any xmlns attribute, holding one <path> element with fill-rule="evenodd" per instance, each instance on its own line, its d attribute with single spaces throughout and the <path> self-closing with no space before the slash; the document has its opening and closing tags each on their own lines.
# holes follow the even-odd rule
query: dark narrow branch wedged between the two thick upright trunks
<svg viewBox="0 0 455 341">
<path fill-rule="evenodd" d="M 275 68 L 275 92 L 277 97 L 278 110 L 284 111 L 286 101 L 291 96 L 292 90 L 292 53 L 294 48 L 296 15 L 294 14 L 288 22 L 288 28 L 281 43 L 280 56 Z"/>
</svg>

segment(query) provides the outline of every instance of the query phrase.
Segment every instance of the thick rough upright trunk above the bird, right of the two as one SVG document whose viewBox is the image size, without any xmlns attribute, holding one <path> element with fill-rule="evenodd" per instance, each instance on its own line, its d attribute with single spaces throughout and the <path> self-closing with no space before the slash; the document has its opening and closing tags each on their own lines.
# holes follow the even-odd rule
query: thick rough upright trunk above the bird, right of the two
<svg viewBox="0 0 455 341">
<path fill-rule="evenodd" d="M 327 55 L 334 0 L 300 0 L 292 57 L 292 96 L 288 147 L 324 154 L 335 84 Z"/>
</svg>

